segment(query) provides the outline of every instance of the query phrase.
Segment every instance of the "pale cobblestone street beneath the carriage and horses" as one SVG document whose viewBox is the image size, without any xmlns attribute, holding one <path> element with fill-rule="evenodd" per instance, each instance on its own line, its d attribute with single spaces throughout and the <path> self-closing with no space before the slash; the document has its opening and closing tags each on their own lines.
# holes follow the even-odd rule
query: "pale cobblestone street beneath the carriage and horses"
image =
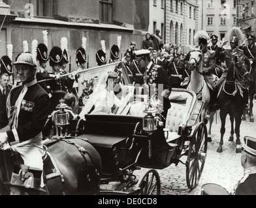
<svg viewBox="0 0 256 208">
<path fill-rule="evenodd" d="M 256 106 L 256 102 L 253 101 L 253 105 Z M 253 109 L 256 114 L 256 107 Z M 246 115 L 246 121 L 242 121 L 240 125 L 240 139 L 243 142 L 244 136 L 256 135 L 255 123 L 249 122 L 249 117 Z M 226 118 L 226 133 L 224 135 L 223 152 L 217 153 L 217 147 L 219 146 L 220 138 L 220 126 L 219 111 L 214 116 L 214 122 L 212 123 L 212 142 L 208 142 L 208 150 L 206 162 L 204 164 L 204 170 L 200 177 L 199 184 L 193 190 L 189 190 L 186 184 L 185 165 L 179 163 L 178 166 L 171 164 L 163 170 L 157 170 L 161 179 L 161 194 L 163 195 L 200 195 L 202 185 L 206 183 L 216 183 L 226 188 L 231 192 L 237 181 L 243 176 L 243 168 L 240 164 L 240 153 L 236 153 L 236 137 L 234 135 L 234 142 L 229 142 L 229 135 L 231 131 L 229 116 Z M 209 125 L 209 124 L 208 124 Z M 207 127 L 208 127 L 207 125 Z M 185 161 L 185 157 L 182 161 Z M 136 177 L 142 177 L 144 169 L 135 170 Z M 120 188 L 119 183 L 111 182 L 108 185 L 103 185 L 101 188 L 104 190 L 117 190 Z"/>
</svg>

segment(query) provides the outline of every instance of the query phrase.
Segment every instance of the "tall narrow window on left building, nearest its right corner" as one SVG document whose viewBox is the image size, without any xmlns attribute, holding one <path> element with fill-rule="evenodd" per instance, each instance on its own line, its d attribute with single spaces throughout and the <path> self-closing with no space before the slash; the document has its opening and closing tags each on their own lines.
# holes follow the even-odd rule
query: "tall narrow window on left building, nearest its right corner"
<svg viewBox="0 0 256 208">
<path fill-rule="evenodd" d="M 113 0 L 100 0 L 99 1 L 99 19 L 102 22 L 112 23 L 113 14 Z"/>
</svg>

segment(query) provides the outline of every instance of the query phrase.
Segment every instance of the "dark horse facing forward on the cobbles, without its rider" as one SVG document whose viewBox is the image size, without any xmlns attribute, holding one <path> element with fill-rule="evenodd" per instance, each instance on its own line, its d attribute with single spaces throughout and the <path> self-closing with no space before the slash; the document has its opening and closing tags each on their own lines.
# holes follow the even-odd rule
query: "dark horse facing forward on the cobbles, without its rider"
<svg viewBox="0 0 256 208">
<path fill-rule="evenodd" d="M 231 135 L 236 133 L 236 153 L 240 152 L 240 124 L 242 122 L 243 106 L 242 96 L 244 89 L 251 83 L 251 76 L 238 55 L 234 56 L 234 61 L 227 71 L 227 78 L 223 82 L 219 93 L 219 108 L 221 118 L 221 139 L 217 152 L 222 152 L 223 136 L 225 134 L 225 122 L 227 114 L 231 118 Z M 233 122 L 236 122 L 233 129 Z"/>
</svg>

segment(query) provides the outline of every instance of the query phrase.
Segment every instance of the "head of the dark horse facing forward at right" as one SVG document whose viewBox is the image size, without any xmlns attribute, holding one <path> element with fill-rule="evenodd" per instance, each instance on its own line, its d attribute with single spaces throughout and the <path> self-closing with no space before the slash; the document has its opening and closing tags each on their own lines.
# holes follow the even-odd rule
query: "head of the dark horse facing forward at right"
<svg viewBox="0 0 256 208">
<path fill-rule="evenodd" d="M 235 55 L 234 61 L 231 64 L 234 65 L 234 71 L 232 73 L 233 79 L 241 81 L 243 85 L 249 86 L 252 82 L 251 76 L 249 75 L 248 66 L 245 64 L 245 57 L 241 55 Z"/>
</svg>

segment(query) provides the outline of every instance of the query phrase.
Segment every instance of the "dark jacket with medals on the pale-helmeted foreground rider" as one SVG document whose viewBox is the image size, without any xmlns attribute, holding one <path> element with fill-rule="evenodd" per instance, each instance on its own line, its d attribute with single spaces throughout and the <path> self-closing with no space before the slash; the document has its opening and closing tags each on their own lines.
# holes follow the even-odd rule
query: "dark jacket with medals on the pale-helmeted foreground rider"
<svg viewBox="0 0 256 208">
<path fill-rule="evenodd" d="M 20 106 L 16 105 L 22 91 L 25 90 L 24 98 Z M 37 83 L 36 80 L 27 85 L 12 88 L 7 98 L 8 117 L 11 131 L 7 131 L 8 142 L 19 140 L 24 142 L 39 135 L 50 114 L 50 98 L 47 92 Z M 13 118 L 18 113 L 16 125 Z"/>
</svg>

